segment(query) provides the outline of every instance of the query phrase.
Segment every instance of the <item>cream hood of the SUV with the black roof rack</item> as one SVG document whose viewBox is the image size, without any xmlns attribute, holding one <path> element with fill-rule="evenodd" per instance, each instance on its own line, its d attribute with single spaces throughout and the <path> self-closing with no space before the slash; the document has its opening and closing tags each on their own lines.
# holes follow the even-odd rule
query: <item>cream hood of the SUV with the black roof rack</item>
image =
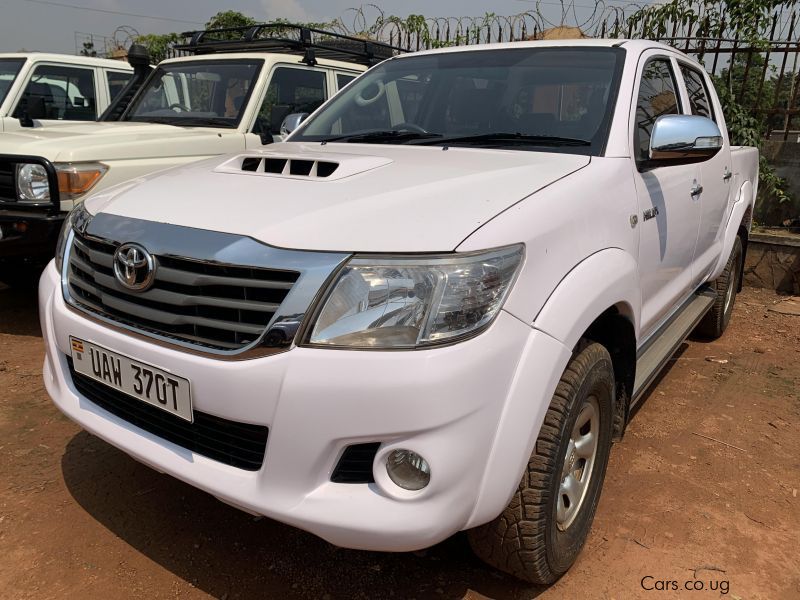
<svg viewBox="0 0 800 600">
<path fill-rule="evenodd" d="M 92 121 L 4 133 L 0 154 L 43 156 L 53 162 L 205 157 L 234 152 L 243 143 L 235 129 Z"/>
</svg>

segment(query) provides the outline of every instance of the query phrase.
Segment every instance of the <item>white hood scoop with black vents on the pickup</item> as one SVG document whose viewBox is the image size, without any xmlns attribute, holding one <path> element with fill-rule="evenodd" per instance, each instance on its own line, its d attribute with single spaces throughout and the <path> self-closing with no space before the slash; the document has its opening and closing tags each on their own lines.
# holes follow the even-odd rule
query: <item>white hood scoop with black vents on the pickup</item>
<svg viewBox="0 0 800 600">
<path fill-rule="evenodd" d="M 325 181 L 342 179 L 365 171 L 371 171 L 391 163 L 380 156 L 358 154 L 308 153 L 287 156 L 278 153 L 239 155 L 226 160 L 216 169 L 217 173 L 247 173 L 289 179 Z"/>
</svg>

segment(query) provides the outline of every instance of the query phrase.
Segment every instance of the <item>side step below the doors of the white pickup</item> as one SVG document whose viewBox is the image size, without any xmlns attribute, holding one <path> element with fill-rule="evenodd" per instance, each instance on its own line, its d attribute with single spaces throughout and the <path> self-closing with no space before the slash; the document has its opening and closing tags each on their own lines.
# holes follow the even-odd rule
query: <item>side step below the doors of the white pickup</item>
<svg viewBox="0 0 800 600">
<path fill-rule="evenodd" d="M 636 379 L 633 383 L 631 408 L 641 400 L 661 369 L 711 309 L 716 299 L 715 291 L 709 288 L 698 290 L 653 335 L 652 342 L 644 347 L 636 358 Z"/>
</svg>

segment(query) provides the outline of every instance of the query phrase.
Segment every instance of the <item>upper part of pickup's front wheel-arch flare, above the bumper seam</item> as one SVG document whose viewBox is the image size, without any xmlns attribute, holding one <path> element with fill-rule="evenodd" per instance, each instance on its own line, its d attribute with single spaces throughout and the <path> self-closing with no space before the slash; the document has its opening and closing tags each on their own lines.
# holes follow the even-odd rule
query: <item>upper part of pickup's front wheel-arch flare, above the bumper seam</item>
<svg viewBox="0 0 800 600">
<path fill-rule="evenodd" d="M 619 248 L 596 252 L 575 266 L 550 294 L 533 326 L 574 348 L 592 322 L 611 306 L 631 320 L 638 341 L 642 307 L 639 265 Z"/>
</svg>

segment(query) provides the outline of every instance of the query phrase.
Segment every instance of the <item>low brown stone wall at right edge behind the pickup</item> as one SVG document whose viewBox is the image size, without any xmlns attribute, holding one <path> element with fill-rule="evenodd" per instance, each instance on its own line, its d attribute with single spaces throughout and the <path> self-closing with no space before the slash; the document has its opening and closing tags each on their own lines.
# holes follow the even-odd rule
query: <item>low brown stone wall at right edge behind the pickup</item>
<svg viewBox="0 0 800 600">
<path fill-rule="evenodd" d="M 747 245 L 744 284 L 800 294 L 800 235 L 753 233 Z"/>
</svg>

